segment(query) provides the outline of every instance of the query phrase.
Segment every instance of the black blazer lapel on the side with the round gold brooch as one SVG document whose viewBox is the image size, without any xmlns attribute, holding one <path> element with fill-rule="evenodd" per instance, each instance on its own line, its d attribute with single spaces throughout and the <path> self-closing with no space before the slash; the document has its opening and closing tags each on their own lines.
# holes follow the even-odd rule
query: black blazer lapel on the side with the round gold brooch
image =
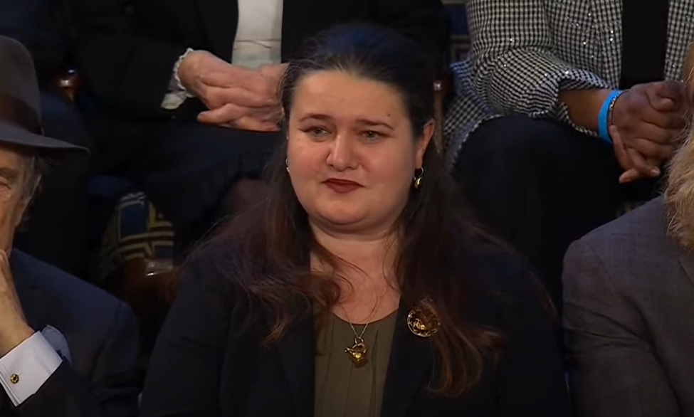
<svg viewBox="0 0 694 417">
<path fill-rule="evenodd" d="M 404 416 L 417 390 L 428 385 L 432 376 L 433 349 L 427 339 L 409 331 L 408 314 L 409 307 L 401 303 L 383 391 L 382 417 Z"/>
</svg>

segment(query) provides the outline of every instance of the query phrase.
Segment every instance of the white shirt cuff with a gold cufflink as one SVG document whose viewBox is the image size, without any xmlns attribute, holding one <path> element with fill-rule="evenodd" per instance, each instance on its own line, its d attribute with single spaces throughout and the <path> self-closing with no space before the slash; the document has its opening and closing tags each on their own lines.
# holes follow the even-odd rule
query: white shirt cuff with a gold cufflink
<svg viewBox="0 0 694 417">
<path fill-rule="evenodd" d="M 0 358 L 0 385 L 18 407 L 36 394 L 62 362 L 43 334 L 36 332 Z"/>
</svg>

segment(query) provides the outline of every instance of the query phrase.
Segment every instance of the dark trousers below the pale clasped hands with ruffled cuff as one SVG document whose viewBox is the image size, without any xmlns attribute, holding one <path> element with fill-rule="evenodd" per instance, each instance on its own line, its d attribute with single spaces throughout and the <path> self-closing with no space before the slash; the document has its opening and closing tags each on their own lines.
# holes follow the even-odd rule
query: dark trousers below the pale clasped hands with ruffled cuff
<svg viewBox="0 0 694 417">
<path fill-rule="evenodd" d="M 129 179 L 171 221 L 177 258 L 228 213 L 220 208 L 238 179 L 258 178 L 279 133 L 259 133 L 178 120 L 138 120 L 87 110 L 95 137 L 95 174 Z"/>
</svg>

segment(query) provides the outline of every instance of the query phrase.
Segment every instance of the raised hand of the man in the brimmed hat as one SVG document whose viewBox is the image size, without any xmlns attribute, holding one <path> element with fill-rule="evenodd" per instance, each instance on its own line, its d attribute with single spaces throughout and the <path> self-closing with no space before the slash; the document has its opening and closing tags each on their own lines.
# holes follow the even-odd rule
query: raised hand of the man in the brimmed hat
<svg viewBox="0 0 694 417">
<path fill-rule="evenodd" d="M 14 287 L 7 253 L 0 250 L 0 357 L 25 341 L 34 330 L 26 318 Z"/>
</svg>

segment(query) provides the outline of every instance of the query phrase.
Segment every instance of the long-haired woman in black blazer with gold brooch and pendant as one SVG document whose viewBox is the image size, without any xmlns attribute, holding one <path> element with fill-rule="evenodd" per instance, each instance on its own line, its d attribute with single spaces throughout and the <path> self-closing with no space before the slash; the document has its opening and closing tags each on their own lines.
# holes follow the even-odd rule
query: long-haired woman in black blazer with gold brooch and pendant
<svg viewBox="0 0 694 417">
<path fill-rule="evenodd" d="M 186 263 L 142 416 L 568 416 L 540 285 L 430 144 L 423 53 L 372 26 L 309 46 L 268 199 Z"/>
</svg>

